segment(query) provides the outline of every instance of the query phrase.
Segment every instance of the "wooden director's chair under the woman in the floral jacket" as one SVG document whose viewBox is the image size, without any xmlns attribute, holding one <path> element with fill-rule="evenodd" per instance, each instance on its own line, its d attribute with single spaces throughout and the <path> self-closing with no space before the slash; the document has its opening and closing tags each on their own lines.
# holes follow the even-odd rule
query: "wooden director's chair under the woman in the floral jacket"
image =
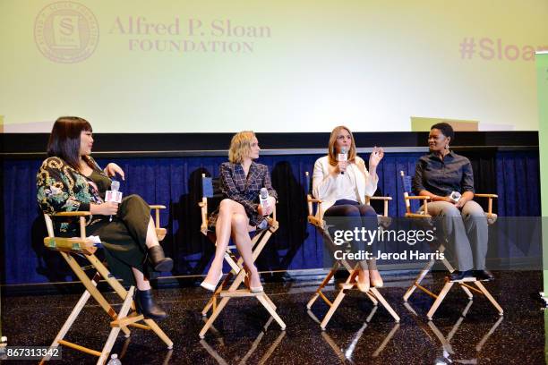
<svg viewBox="0 0 548 365">
<path fill-rule="evenodd" d="M 166 208 L 165 206 L 152 205 L 150 208 L 156 209 L 156 234 L 158 235 L 158 241 L 161 241 L 166 236 L 167 230 L 165 228 L 159 227 L 159 209 Z M 44 238 L 44 245 L 49 250 L 57 250 L 73 269 L 74 274 L 78 276 L 81 280 L 81 283 L 86 287 L 86 291 L 81 294 L 81 298 L 74 306 L 73 311 L 70 316 L 64 322 L 63 327 L 56 335 L 56 339 L 51 344 L 51 347 L 56 347 L 58 345 L 64 345 L 74 350 L 81 352 L 86 352 L 91 355 L 98 356 L 98 364 L 104 364 L 108 360 L 108 355 L 112 350 L 116 342 L 116 337 L 120 331 L 124 332 L 125 337 L 130 335 L 130 330 L 128 327 L 136 327 L 146 330 L 152 330 L 158 337 L 167 344 L 168 349 L 173 348 L 173 342 L 167 337 L 167 335 L 162 331 L 160 327 L 156 324 L 153 319 L 144 318 L 142 314 L 138 314 L 135 311 L 135 304 L 133 302 L 133 293 L 135 287 L 132 285 L 129 290 L 125 290 L 124 286 L 120 284 L 116 278 L 108 271 L 107 267 L 95 256 L 95 252 L 98 247 L 100 247 L 100 242 L 94 241 L 92 238 L 86 236 L 86 216 L 90 216 L 90 212 L 78 211 L 78 212 L 64 212 L 56 213 L 51 215 L 54 217 L 65 217 L 65 218 L 74 218 L 79 217 L 80 219 L 80 237 L 73 238 L 62 238 L 56 237 L 54 233 L 54 225 L 52 219 L 47 214 L 44 215 L 46 219 L 47 226 L 47 237 Z M 75 256 L 81 256 L 88 261 L 90 261 L 89 266 L 81 267 L 77 262 Z M 85 270 L 94 269 L 96 270 L 95 274 L 90 279 L 89 276 L 84 272 Z M 97 289 L 97 284 L 100 279 L 103 279 L 107 282 L 108 285 L 118 294 L 118 296 L 123 300 L 122 308 L 116 313 L 116 310 L 107 302 L 103 294 L 101 294 Z M 104 344 L 101 351 L 92 350 L 88 347 L 84 347 L 80 344 L 74 344 L 64 340 L 64 336 L 67 332 L 73 327 L 73 323 L 80 314 L 81 310 L 84 308 L 86 302 L 90 299 L 90 296 L 98 302 L 98 305 L 107 312 L 107 315 L 112 319 L 110 322 L 110 333 L 107 337 L 107 342 Z M 131 313 L 130 313 L 131 310 Z M 129 314 L 128 314 L 129 313 Z M 140 321 L 144 322 L 144 325 L 138 323 Z M 48 361 L 49 357 L 44 357 L 40 364 Z"/>
</svg>

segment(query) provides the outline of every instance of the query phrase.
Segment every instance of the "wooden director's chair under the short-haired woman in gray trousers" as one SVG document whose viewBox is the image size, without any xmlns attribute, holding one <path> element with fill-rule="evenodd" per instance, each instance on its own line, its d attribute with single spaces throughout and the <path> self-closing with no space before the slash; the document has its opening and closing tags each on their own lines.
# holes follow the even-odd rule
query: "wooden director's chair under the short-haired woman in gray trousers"
<svg viewBox="0 0 548 365">
<path fill-rule="evenodd" d="M 404 200 L 405 200 L 405 203 L 406 203 L 406 217 L 411 218 L 411 219 L 415 219 L 415 220 L 419 221 L 419 223 L 421 223 L 422 225 L 432 227 L 433 226 L 432 216 L 428 214 L 428 201 L 430 200 L 430 197 L 410 195 L 411 191 L 412 191 L 411 176 L 406 175 L 403 171 L 400 171 L 399 174 L 401 175 L 401 179 L 402 179 L 402 183 L 403 183 L 403 189 L 404 189 Z M 497 220 L 497 215 L 492 213 L 492 199 L 496 199 L 496 198 L 498 198 L 498 196 L 496 194 L 474 194 L 474 197 L 487 198 L 488 199 L 488 208 L 487 208 L 487 211 L 485 212 L 485 216 L 487 218 L 487 224 L 492 225 Z M 411 202 L 410 201 L 414 200 L 414 199 L 423 201 L 423 209 L 420 213 L 413 213 L 411 211 Z M 438 251 L 440 253 L 444 252 L 445 251 L 445 244 L 444 244 L 443 240 L 440 240 L 440 237 L 438 237 L 438 244 L 439 244 Z M 419 275 L 416 276 L 415 282 L 409 287 L 409 289 L 407 289 L 407 292 L 404 294 L 404 301 L 407 301 L 409 299 L 409 297 L 411 296 L 411 294 L 413 294 L 415 292 L 415 289 L 417 289 L 417 288 L 422 290 L 424 293 L 427 293 L 428 295 L 430 295 L 432 298 L 435 299 L 435 301 L 432 304 L 432 307 L 430 308 L 430 310 L 426 314 L 426 317 L 428 319 L 432 319 L 434 313 L 440 307 L 441 302 L 445 299 L 445 296 L 447 295 L 447 293 L 449 293 L 451 287 L 454 284 L 458 284 L 462 288 L 462 290 L 465 293 L 467 293 L 467 297 L 468 297 L 469 300 L 472 300 L 472 298 L 473 298 L 472 292 L 484 295 L 485 298 L 487 298 L 489 301 L 491 301 L 492 306 L 496 310 L 498 310 L 499 315 L 503 314 L 503 310 L 502 310 L 501 306 L 499 305 L 499 303 L 494 300 L 491 293 L 489 293 L 489 291 L 487 291 L 487 289 L 484 287 L 484 284 L 482 284 L 482 282 L 479 281 L 479 280 L 465 279 L 465 280 L 462 280 L 462 281 L 451 282 L 449 277 L 446 277 L 445 278 L 445 284 L 443 285 L 443 288 L 441 289 L 440 293 L 435 294 L 435 293 L 432 293 L 430 290 L 426 289 L 421 284 L 421 282 L 423 281 L 424 276 L 426 276 L 426 274 L 428 274 L 428 272 L 432 269 L 433 265 L 435 264 L 435 261 L 436 261 L 435 259 L 431 259 L 430 261 L 428 261 L 428 263 L 426 264 L 426 266 L 424 266 L 424 268 L 421 270 Z M 442 259 L 441 263 L 443 264 L 444 267 L 446 267 L 449 270 L 450 273 L 455 271 L 455 268 L 451 266 L 450 262 L 447 259 L 445 259 L 445 258 Z M 467 284 L 467 283 L 475 284 L 476 287 L 472 286 L 471 284 Z"/>
</svg>

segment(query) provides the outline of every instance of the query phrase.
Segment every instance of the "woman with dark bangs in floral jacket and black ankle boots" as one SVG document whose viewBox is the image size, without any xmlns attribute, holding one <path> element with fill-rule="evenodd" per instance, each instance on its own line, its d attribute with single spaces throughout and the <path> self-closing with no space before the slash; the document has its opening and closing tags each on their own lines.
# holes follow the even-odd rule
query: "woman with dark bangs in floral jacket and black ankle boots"
<svg viewBox="0 0 548 365">
<path fill-rule="evenodd" d="M 124 179 L 124 171 L 114 163 L 101 170 L 90 156 L 92 146 L 88 121 L 76 116 L 56 120 L 47 143 L 48 157 L 37 174 L 40 208 L 46 214 L 89 211 L 86 233 L 99 236 L 113 274 L 125 284 L 137 285 L 137 310 L 147 318 L 166 318 L 152 298 L 149 277 L 153 271 L 170 271 L 173 260 L 165 257 L 150 207 L 141 197 L 129 195 L 119 205 L 105 202 L 111 185 L 108 176 L 120 174 Z M 65 221 L 55 229 L 64 237 L 79 235 L 77 221 Z"/>
</svg>

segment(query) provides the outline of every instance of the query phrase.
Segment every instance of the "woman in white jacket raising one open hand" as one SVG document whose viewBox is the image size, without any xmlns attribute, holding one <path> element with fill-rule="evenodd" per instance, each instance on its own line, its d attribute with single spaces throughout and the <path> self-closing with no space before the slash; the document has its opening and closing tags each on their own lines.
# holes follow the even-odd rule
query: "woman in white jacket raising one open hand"
<svg viewBox="0 0 548 365">
<path fill-rule="evenodd" d="M 339 154 L 345 153 L 346 160 L 338 158 Z M 318 158 L 314 164 L 313 195 L 322 200 L 324 217 L 348 217 L 344 221 L 349 225 L 360 224 L 368 230 L 377 229 L 377 213 L 365 204 L 365 196 L 372 196 L 377 190 L 377 166 L 382 157 L 384 150 L 373 148 L 367 171 L 364 159 L 355 154 L 352 132 L 344 125 L 335 127 L 330 136 L 328 156 Z M 354 227 L 338 229 L 353 230 Z M 381 287 L 382 278 L 374 259 L 360 261 L 359 264 L 358 288 L 367 292 L 370 284 Z"/>
</svg>

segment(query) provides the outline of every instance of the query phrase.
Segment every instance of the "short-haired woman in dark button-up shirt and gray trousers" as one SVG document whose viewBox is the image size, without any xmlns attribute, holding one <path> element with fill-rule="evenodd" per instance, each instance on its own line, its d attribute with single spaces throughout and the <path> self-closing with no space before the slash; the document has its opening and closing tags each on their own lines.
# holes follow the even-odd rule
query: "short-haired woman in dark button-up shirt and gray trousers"
<svg viewBox="0 0 548 365">
<path fill-rule="evenodd" d="M 474 199 L 474 174 L 467 157 L 450 150 L 455 132 L 449 123 L 432 125 L 430 154 L 416 163 L 413 191 L 430 197 L 428 213 L 441 216 L 441 228 L 458 261 L 450 280 L 492 280 L 485 270 L 487 217 Z"/>
</svg>

